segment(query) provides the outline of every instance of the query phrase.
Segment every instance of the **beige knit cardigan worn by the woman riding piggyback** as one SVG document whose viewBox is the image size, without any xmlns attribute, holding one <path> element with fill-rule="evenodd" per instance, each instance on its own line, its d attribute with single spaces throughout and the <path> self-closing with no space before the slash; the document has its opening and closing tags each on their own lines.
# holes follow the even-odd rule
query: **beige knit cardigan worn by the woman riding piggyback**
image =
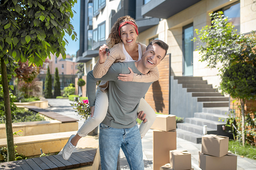
<svg viewBox="0 0 256 170">
<path fill-rule="evenodd" d="M 140 44 L 141 51 L 143 53 L 143 51 L 147 48 L 147 46 L 144 44 L 141 44 L 140 42 L 138 42 L 138 44 Z M 125 55 L 123 51 L 123 43 L 119 42 L 118 44 L 110 48 L 109 56 L 107 57 L 104 63 L 100 64 L 99 60 L 97 61 L 96 65 L 93 68 L 93 76 L 95 78 L 101 78 L 108 72 L 109 67 L 113 63 L 123 62 L 124 60 L 125 60 Z M 157 67 L 154 67 L 151 70 L 149 70 L 148 74 L 139 75 L 134 73 L 132 81 L 149 83 L 149 82 L 157 81 L 158 79 L 159 79 L 159 72 L 157 70 Z M 108 82 L 101 81 L 100 87 L 102 88 L 101 90 L 104 91 L 108 87 Z"/>
</svg>

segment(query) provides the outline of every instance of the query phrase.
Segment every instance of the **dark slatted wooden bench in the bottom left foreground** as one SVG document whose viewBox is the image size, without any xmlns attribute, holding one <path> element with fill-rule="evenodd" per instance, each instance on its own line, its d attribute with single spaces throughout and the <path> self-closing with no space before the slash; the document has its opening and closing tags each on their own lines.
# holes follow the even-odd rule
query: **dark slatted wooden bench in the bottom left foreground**
<svg viewBox="0 0 256 170">
<path fill-rule="evenodd" d="M 97 149 L 74 152 L 71 154 L 71 157 L 68 160 L 63 159 L 61 155 L 52 155 L 46 157 L 4 162 L 0 163 L 0 170 L 98 170 L 99 153 L 97 154 L 97 152 L 99 152 Z"/>
</svg>

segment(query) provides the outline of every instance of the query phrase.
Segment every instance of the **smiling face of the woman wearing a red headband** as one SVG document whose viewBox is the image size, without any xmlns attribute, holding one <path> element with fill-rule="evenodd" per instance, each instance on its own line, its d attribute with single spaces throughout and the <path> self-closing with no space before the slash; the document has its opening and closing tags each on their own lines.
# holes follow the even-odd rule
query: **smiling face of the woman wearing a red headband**
<svg viewBox="0 0 256 170">
<path fill-rule="evenodd" d="M 120 29 L 121 40 L 125 46 L 134 46 L 138 37 L 135 28 L 130 24 L 125 24 Z"/>
</svg>

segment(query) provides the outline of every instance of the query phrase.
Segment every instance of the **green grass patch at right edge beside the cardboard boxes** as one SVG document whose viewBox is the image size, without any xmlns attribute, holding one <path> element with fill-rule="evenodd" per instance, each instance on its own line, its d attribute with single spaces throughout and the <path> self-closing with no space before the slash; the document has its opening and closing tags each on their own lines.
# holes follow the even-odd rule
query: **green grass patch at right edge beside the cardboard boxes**
<svg viewBox="0 0 256 170">
<path fill-rule="evenodd" d="M 249 144 L 245 144 L 243 147 L 242 143 L 234 140 L 229 140 L 228 150 L 237 155 L 245 156 L 251 159 L 256 159 L 256 147 L 253 147 Z"/>
</svg>

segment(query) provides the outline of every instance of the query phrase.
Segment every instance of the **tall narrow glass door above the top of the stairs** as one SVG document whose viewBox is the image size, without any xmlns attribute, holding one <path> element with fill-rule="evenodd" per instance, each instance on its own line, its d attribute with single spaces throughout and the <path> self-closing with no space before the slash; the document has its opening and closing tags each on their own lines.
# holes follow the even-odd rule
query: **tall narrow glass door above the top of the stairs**
<svg viewBox="0 0 256 170">
<path fill-rule="evenodd" d="M 193 76 L 193 23 L 184 26 L 182 31 L 183 76 Z"/>
</svg>

